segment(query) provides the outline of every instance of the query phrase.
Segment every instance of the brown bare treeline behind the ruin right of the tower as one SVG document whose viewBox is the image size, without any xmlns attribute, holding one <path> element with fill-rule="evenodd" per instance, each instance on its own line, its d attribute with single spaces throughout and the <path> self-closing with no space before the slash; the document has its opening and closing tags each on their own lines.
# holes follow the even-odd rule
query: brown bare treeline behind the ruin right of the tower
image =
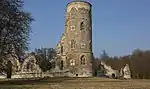
<svg viewBox="0 0 150 89">
<path fill-rule="evenodd" d="M 115 70 L 119 70 L 123 68 L 125 64 L 129 64 L 133 79 L 150 79 L 150 50 L 142 51 L 136 49 L 131 55 L 122 57 L 109 57 L 108 54 L 103 51 L 100 58 L 95 58 L 95 71 L 100 69 L 100 60 L 104 60 L 106 64 Z"/>
</svg>

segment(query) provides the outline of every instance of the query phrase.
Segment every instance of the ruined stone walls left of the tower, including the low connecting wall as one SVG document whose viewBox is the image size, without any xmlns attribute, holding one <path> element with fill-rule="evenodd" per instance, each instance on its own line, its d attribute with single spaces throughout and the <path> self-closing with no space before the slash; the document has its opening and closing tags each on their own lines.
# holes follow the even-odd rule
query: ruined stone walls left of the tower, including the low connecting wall
<svg viewBox="0 0 150 89">
<path fill-rule="evenodd" d="M 69 69 L 61 70 L 59 67 L 60 59 L 54 58 L 50 62 L 55 62 L 55 67 L 47 72 L 43 72 L 39 65 L 37 64 L 37 60 L 35 55 L 26 54 L 24 55 L 24 59 L 19 62 L 19 58 L 9 56 L 9 60 L 11 60 L 12 66 L 12 76 L 11 78 L 37 78 L 37 77 L 75 77 L 72 73 L 70 73 Z M 85 72 L 85 71 L 84 71 Z M 82 77 L 82 76 L 81 76 Z M 7 74 L 4 73 L 0 75 L 1 78 L 7 78 Z"/>
</svg>

